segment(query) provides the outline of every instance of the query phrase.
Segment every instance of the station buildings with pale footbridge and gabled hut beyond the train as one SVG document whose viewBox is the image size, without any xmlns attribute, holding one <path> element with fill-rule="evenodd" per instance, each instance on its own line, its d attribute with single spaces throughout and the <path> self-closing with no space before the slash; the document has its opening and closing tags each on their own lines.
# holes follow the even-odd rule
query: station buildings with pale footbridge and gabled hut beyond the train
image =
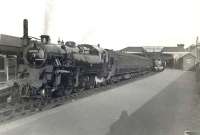
<svg viewBox="0 0 200 135">
<path fill-rule="evenodd" d="M 121 53 L 148 56 L 151 59 L 161 59 L 166 62 L 168 68 L 194 70 L 195 65 L 197 64 L 196 56 L 192 51 L 184 49 L 183 44 L 178 44 L 173 47 L 127 47 L 120 51 Z"/>
</svg>

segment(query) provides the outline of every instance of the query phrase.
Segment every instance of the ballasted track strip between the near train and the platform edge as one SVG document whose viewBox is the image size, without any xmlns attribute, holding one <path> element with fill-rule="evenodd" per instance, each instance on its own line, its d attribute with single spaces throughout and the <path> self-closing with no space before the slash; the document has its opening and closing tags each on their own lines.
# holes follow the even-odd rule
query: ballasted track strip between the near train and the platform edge
<svg viewBox="0 0 200 135">
<path fill-rule="evenodd" d="M 74 92 L 69 96 L 63 96 L 58 98 L 53 98 L 50 100 L 23 100 L 20 103 L 4 103 L 0 104 L 0 124 L 8 123 L 13 120 L 17 120 L 23 117 L 28 117 L 30 115 L 46 111 L 60 105 L 73 102 L 74 100 L 78 100 L 84 97 L 88 97 L 93 94 L 98 94 L 100 92 L 110 90 L 112 88 L 133 82 L 135 80 L 139 80 L 150 75 L 155 74 L 155 72 L 148 72 L 144 74 L 137 75 L 131 79 L 123 80 L 118 83 L 112 83 L 109 85 L 104 85 L 99 88 L 93 88 L 88 90 L 79 90 Z"/>
</svg>

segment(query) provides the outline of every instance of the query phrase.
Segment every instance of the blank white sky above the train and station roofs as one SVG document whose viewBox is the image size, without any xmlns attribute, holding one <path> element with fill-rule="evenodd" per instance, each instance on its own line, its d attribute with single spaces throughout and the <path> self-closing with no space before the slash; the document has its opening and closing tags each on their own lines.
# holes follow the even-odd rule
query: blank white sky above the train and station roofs
<svg viewBox="0 0 200 135">
<path fill-rule="evenodd" d="M 0 33 L 49 34 L 103 48 L 195 44 L 200 36 L 200 0 L 0 0 Z"/>
</svg>

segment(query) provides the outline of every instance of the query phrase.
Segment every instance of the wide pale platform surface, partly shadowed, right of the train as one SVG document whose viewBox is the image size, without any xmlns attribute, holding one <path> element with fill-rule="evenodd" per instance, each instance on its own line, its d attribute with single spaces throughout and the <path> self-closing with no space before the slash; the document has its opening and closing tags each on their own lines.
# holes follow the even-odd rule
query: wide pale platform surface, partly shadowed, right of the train
<svg viewBox="0 0 200 135">
<path fill-rule="evenodd" d="M 200 128 L 195 73 L 170 70 L 0 125 L 1 135 L 183 135 Z"/>
</svg>

